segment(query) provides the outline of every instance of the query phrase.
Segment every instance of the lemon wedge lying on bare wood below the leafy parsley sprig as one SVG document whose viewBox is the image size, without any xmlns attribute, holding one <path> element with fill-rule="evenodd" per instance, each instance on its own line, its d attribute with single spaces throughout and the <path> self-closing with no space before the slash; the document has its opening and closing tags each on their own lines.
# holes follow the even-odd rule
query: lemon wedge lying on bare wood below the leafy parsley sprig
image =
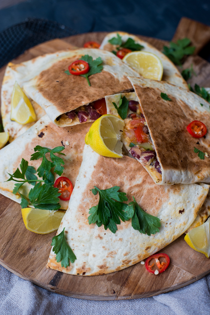
<svg viewBox="0 0 210 315">
<path fill-rule="evenodd" d="M 34 208 L 23 208 L 21 211 L 26 229 L 38 234 L 48 234 L 56 231 L 65 214 L 61 210 L 54 211 Z"/>
</svg>

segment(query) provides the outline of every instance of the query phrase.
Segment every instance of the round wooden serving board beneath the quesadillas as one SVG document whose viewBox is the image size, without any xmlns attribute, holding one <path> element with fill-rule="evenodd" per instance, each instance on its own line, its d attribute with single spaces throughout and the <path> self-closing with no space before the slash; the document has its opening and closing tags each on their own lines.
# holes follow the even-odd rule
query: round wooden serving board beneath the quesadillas
<svg viewBox="0 0 210 315">
<path fill-rule="evenodd" d="M 85 41 L 102 41 L 105 32 L 81 34 L 40 44 L 13 60 L 18 63 L 43 53 L 81 47 Z M 164 41 L 146 38 L 157 48 Z M 5 69 L 5 67 L 4 67 Z M 0 80 L 4 69 L 0 70 Z M 164 248 L 170 265 L 155 276 L 140 263 L 101 276 L 76 276 L 46 268 L 51 240 L 56 232 L 40 235 L 26 230 L 20 205 L 0 195 L 0 264 L 19 277 L 40 287 L 71 297 L 89 300 L 136 299 L 158 295 L 184 287 L 210 272 L 210 260 L 191 249 L 184 235 Z M 199 267 L 198 267 L 199 266 Z"/>
</svg>

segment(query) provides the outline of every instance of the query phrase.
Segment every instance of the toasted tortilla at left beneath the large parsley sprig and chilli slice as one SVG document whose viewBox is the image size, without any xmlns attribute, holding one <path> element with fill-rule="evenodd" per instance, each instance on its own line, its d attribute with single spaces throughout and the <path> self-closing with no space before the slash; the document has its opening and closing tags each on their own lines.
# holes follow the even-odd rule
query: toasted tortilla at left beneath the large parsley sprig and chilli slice
<svg viewBox="0 0 210 315">
<path fill-rule="evenodd" d="M 42 159 L 30 161 L 31 154 L 34 153 L 34 148 L 37 145 L 50 149 L 56 146 L 65 147 L 65 150 L 62 151 L 65 153 L 65 156 L 58 154 L 65 162 L 65 169 L 61 176 L 69 178 L 74 187 L 82 163 L 85 135 L 90 126 L 91 123 L 87 123 L 83 126 L 74 126 L 74 128 L 58 128 L 51 122 L 47 115 L 43 116 L 23 135 L 20 135 L 12 143 L 0 150 L 0 164 L 2 169 L 2 172 L 0 172 L 0 193 L 18 203 L 21 202 L 19 194 L 14 195 L 12 193 L 15 182 L 13 180 L 6 180 L 10 177 L 8 173 L 13 174 L 17 168 L 20 169 L 22 158 L 27 160 L 29 162 L 28 164 L 34 166 L 37 170 Z M 69 145 L 66 145 L 67 141 L 69 141 Z M 47 154 L 46 157 L 49 159 L 49 154 Z M 58 174 L 54 174 L 54 176 L 55 180 L 60 177 Z M 38 177 L 38 179 L 40 178 Z M 20 188 L 20 192 L 28 196 L 32 187 L 32 185 L 25 183 Z M 66 210 L 68 203 L 69 201 L 60 200 L 61 209 Z"/>
</svg>

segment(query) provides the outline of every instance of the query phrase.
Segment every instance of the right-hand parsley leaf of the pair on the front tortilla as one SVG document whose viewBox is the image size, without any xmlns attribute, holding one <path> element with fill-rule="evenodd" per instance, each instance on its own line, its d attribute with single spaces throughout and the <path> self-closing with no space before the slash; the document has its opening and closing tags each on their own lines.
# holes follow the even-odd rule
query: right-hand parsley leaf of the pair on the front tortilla
<svg viewBox="0 0 210 315">
<path fill-rule="evenodd" d="M 134 197 L 133 201 L 128 204 L 128 209 L 128 217 L 132 217 L 131 224 L 134 230 L 143 234 L 147 233 L 147 235 L 159 232 L 160 219 L 141 209 Z M 131 216 L 132 214 L 133 216 Z"/>
</svg>

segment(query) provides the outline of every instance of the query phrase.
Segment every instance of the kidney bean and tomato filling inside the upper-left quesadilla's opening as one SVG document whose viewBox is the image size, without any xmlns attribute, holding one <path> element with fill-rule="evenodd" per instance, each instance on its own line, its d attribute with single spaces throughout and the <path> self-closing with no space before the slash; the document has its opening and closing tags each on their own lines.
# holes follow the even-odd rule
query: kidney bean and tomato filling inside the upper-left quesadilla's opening
<svg viewBox="0 0 210 315">
<path fill-rule="evenodd" d="M 105 115 L 106 102 L 105 99 L 94 101 L 88 105 L 80 106 L 71 112 L 66 112 L 56 118 L 56 121 L 59 121 L 59 124 L 68 124 L 68 123 L 87 123 L 92 122 Z"/>
</svg>

